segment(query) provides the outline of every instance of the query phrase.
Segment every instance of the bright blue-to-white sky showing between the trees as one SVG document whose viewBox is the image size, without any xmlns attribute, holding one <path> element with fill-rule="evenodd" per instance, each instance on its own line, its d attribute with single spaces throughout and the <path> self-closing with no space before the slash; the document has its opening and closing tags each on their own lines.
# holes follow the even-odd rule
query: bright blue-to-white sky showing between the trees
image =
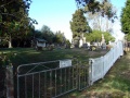
<svg viewBox="0 0 130 98">
<path fill-rule="evenodd" d="M 120 16 L 121 9 L 127 0 L 110 0 Z M 38 22 L 36 29 L 41 29 L 43 25 L 52 32 L 61 30 L 65 37 L 72 40 L 69 22 L 77 10 L 75 0 L 32 0 L 29 9 L 29 16 Z M 119 19 L 113 24 L 115 36 L 122 37 Z"/>
</svg>

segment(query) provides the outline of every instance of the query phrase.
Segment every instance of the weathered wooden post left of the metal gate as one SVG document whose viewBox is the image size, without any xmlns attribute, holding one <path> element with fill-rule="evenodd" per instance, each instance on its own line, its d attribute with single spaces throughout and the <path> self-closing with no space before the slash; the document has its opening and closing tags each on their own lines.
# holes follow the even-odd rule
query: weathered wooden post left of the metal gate
<svg viewBox="0 0 130 98">
<path fill-rule="evenodd" d="M 13 66 L 8 65 L 5 71 L 6 98 L 14 98 Z"/>
</svg>

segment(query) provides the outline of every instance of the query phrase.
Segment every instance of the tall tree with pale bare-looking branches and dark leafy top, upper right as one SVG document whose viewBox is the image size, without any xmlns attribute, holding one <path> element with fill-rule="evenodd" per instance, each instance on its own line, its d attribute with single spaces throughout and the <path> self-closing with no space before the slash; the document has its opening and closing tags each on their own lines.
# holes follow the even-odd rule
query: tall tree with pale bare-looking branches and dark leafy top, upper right
<svg viewBox="0 0 130 98">
<path fill-rule="evenodd" d="M 91 27 L 99 30 L 109 30 L 108 25 L 114 23 L 117 17 L 116 9 L 109 1 L 94 0 L 93 4 L 87 4 L 83 10 Z"/>
</svg>

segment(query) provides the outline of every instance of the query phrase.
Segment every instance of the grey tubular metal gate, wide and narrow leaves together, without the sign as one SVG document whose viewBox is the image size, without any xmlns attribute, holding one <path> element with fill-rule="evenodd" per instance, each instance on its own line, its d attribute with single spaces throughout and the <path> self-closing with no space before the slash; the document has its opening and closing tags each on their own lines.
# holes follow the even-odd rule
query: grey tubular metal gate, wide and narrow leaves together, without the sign
<svg viewBox="0 0 130 98">
<path fill-rule="evenodd" d="M 88 87 L 88 68 L 60 68 L 60 60 L 17 68 L 17 98 L 55 98 Z"/>
</svg>

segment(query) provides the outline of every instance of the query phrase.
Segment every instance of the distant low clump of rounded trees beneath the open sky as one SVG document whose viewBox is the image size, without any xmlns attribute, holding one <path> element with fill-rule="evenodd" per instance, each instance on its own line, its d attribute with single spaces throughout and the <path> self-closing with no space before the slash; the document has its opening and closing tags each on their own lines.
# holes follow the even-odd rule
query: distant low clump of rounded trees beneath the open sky
<svg viewBox="0 0 130 98">
<path fill-rule="evenodd" d="M 35 38 L 46 39 L 48 44 L 64 46 L 66 42 L 68 42 L 66 41 L 67 39 L 65 38 L 64 33 L 61 30 L 54 33 L 47 25 L 43 25 L 40 30 L 35 30 L 32 35 Z"/>
</svg>

